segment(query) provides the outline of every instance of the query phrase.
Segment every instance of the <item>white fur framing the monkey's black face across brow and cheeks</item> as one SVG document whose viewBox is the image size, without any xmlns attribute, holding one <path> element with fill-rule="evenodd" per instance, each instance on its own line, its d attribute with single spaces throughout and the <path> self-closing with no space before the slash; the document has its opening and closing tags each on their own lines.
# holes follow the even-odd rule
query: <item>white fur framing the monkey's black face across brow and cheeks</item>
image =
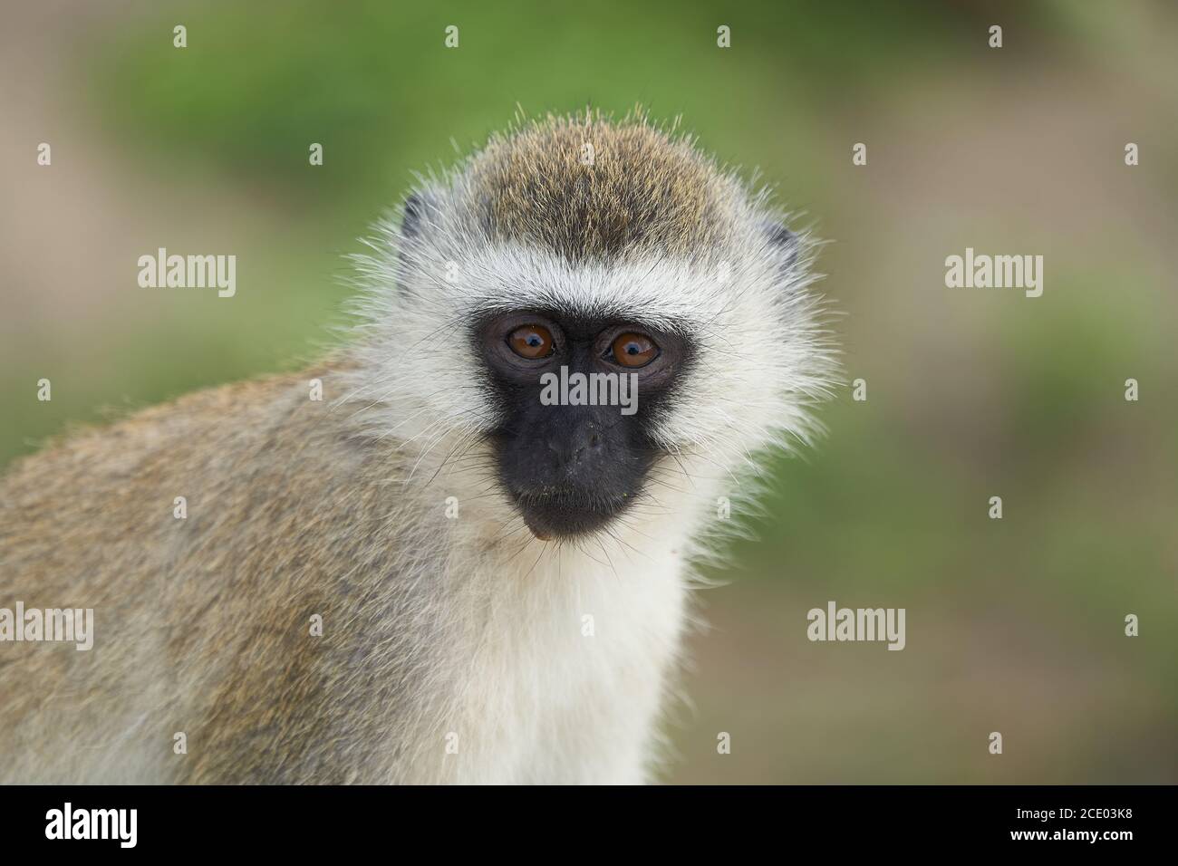
<svg viewBox="0 0 1178 866">
<path fill-rule="evenodd" d="M 396 231 L 385 226 L 385 237 Z M 358 396 L 372 402 L 375 432 L 397 424 L 399 439 L 488 429 L 496 406 L 475 357 L 468 322 L 476 313 L 573 308 L 653 326 L 686 323 L 695 364 L 676 386 L 674 409 L 659 438 L 707 448 L 736 465 L 772 444 L 808 441 L 809 406 L 828 395 L 835 361 L 820 298 L 803 271 L 786 276 L 781 258 L 759 238 L 700 263 L 633 262 L 575 267 L 558 256 L 519 245 L 482 244 L 461 262 L 446 245 L 415 245 L 404 259 L 390 247 L 363 259 L 368 293 Z M 392 284 L 398 275 L 408 290 Z M 723 279 L 721 282 L 721 275 Z M 396 406 L 396 418 L 380 406 Z M 383 430 L 382 430 L 383 428 Z"/>
</svg>

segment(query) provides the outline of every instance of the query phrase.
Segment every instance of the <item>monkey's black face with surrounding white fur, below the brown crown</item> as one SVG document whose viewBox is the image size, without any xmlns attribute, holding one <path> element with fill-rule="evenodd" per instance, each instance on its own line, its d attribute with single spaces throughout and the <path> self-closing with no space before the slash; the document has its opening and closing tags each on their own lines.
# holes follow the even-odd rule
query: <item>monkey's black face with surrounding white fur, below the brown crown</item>
<svg viewBox="0 0 1178 866">
<path fill-rule="evenodd" d="M 487 483 L 492 522 L 519 516 L 548 538 L 643 531 L 742 495 L 759 449 L 812 429 L 828 356 L 773 234 L 616 262 L 463 246 L 457 229 L 413 238 L 399 290 L 380 296 L 364 417 L 416 449 L 423 483 Z"/>
</svg>

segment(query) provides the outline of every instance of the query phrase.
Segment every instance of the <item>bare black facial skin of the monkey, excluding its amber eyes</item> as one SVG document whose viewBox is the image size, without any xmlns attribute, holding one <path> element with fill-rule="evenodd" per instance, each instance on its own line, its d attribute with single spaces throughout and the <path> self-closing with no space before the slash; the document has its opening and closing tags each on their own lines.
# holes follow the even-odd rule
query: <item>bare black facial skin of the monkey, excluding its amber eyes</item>
<svg viewBox="0 0 1178 866">
<path fill-rule="evenodd" d="M 509 337 L 524 325 L 540 325 L 552 337 L 552 351 L 524 358 Z M 611 357 L 623 333 L 649 337 L 657 356 L 642 368 Z M 490 434 L 499 481 L 537 538 L 573 538 L 603 529 L 641 494 L 660 449 L 651 424 L 690 363 L 684 336 L 655 331 L 638 322 L 589 318 L 558 311 L 521 311 L 494 316 L 475 328 L 475 345 L 490 372 L 503 422 Z M 637 375 L 637 412 L 620 405 L 544 405 L 545 372 Z"/>
</svg>

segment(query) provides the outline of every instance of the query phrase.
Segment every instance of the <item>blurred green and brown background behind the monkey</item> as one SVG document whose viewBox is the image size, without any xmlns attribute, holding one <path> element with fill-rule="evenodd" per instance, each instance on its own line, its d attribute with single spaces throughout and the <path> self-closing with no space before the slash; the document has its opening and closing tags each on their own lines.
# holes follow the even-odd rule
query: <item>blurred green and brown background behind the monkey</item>
<svg viewBox="0 0 1178 866">
<path fill-rule="evenodd" d="M 772 467 L 756 540 L 702 593 L 669 779 L 1178 781 L 1172 4 L 0 14 L 0 462 L 108 408 L 316 357 L 349 295 L 342 253 L 415 171 L 517 106 L 642 103 L 760 167 L 833 240 L 823 287 L 846 313 L 847 378 L 868 388 Z M 157 246 L 236 253 L 237 297 L 144 293 L 135 260 Z M 966 246 L 1043 254 L 1044 296 L 946 289 Z M 907 649 L 808 642 L 827 600 L 906 607 Z"/>
</svg>

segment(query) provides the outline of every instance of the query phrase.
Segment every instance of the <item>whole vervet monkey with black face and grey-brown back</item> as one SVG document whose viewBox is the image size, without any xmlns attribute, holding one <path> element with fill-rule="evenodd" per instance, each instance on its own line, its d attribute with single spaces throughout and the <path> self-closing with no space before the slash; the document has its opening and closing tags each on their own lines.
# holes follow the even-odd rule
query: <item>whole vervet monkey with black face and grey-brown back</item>
<svg viewBox="0 0 1178 866">
<path fill-rule="evenodd" d="M 641 114 L 517 124 L 398 216 L 322 366 L 7 474 L 0 608 L 94 619 L 0 642 L 4 780 L 656 778 L 716 503 L 835 376 L 813 244 Z"/>
</svg>

